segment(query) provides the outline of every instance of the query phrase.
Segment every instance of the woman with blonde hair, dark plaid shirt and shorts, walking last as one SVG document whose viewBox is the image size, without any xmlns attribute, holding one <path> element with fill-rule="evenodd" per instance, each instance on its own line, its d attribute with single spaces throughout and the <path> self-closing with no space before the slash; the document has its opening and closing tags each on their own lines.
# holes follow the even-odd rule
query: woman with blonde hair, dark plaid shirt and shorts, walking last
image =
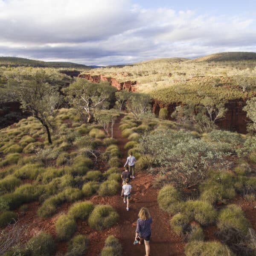
<svg viewBox="0 0 256 256">
<path fill-rule="evenodd" d="M 139 237 L 140 238 L 139 244 L 141 244 L 141 239 L 144 239 L 145 250 L 146 250 L 145 256 L 149 256 L 149 251 L 150 251 L 149 239 L 151 236 L 150 224 L 152 223 L 152 218 L 150 216 L 150 213 L 148 212 L 148 209 L 145 207 L 142 207 L 140 209 L 138 217 L 139 218 L 137 219 L 135 240 L 137 239 L 137 237 Z"/>
</svg>

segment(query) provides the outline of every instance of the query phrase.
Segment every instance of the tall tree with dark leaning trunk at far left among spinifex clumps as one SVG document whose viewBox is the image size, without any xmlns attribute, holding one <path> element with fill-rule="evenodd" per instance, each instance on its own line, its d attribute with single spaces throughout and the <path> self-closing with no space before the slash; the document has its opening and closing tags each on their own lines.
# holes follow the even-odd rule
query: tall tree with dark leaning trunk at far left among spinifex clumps
<svg viewBox="0 0 256 256">
<path fill-rule="evenodd" d="M 45 82 L 47 79 L 44 71 L 38 71 L 29 80 L 21 82 L 20 108 L 31 113 L 44 125 L 48 142 L 52 144 L 50 128 L 54 129 L 54 117 L 63 99 L 55 87 Z"/>
</svg>

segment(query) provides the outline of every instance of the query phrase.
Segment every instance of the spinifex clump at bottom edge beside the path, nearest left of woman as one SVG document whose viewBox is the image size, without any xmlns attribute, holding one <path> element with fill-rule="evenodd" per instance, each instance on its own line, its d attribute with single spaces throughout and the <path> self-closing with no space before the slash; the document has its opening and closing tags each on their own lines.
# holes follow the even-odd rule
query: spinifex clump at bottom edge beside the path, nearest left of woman
<svg viewBox="0 0 256 256">
<path fill-rule="evenodd" d="M 108 236 L 100 256 L 122 256 L 122 245 L 115 236 Z"/>
</svg>

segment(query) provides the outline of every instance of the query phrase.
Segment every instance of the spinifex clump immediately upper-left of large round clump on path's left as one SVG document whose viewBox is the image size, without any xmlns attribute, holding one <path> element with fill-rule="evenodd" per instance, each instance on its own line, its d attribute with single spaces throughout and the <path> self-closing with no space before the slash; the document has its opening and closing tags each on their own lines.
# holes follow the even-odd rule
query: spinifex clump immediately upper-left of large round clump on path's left
<svg viewBox="0 0 256 256">
<path fill-rule="evenodd" d="M 70 207 L 68 215 L 72 216 L 75 220 L 78 218 L 87 220 L 93 209 L 94 205 L 90 201 L 78 202 Z"/>
</svg>

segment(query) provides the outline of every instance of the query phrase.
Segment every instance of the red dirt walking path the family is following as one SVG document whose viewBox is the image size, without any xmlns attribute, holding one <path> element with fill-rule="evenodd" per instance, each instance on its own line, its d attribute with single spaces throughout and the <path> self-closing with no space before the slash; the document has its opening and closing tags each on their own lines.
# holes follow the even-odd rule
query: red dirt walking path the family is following
<svg viewBox="0 0 256 256">
<path fill-rule="evenodd" d="M 113 137 L 118 140 L 118 146 L 123 152 L 122 161 L 125 163 L 127 150 L 124 150 L 127 139 L 122 137 L 119 130 L 119 120 L 117 120 Z M 141 207 L 147 207 L 151 213 L 153 223 L 151 225 L 151 256 L 181 256 L 184 255 L 184 243 L 169 226 L 169 216 L 161 211 L 157 204 L 157 189 L 152 186 L 152 176 L 140 172 L 131 181 L 132 193 L 130 210 L 126 211 L 126 206 L 119 195 L 116 198 L 114 207 L 120 215 L 116 236 L 120 239 L 123 246 L 123 255 L 145 255 L 144 245 L 134 245 L 137 215 Z M 120 193 L 121 194 L 121 193 Z"/>
</svg>

